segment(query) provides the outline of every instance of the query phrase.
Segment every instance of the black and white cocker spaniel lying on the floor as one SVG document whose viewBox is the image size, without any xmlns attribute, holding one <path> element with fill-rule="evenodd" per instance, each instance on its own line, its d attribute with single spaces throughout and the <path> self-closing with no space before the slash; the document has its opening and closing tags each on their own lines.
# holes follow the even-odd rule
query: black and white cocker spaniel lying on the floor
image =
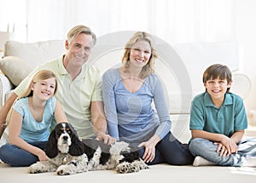
<svg viewBox="0 0 256 183">
<path fill-rule="evenodd" d="M 118 173 L 132 173 L 148 169 L 148 165 L 129 144 L 119 141 L 112 146 L 102 141 L 79 140 L 70 123 L 58 123 L 49 134 L 45 150 L 48 161 L 32 164 L 31 174 L 55 172 L 59 175 L 78 174 L 96 169 L 116 169 Z"/>
</svg>

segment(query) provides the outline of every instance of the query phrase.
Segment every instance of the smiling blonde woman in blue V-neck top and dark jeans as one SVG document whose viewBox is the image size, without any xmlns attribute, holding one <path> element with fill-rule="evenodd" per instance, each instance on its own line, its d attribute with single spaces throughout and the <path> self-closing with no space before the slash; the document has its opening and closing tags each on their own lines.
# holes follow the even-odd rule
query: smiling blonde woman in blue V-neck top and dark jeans
<svg viewBox="0 0 256 183">
<path fill-rule="evenodd" d="M 192 164 L 194 157 L 189 146 L 170 132 L 164 89 L 153 68 L 156 58 L 152 38 L 138 31 L 125 44 L 123 66 L 103 74 L 108 133 L 116 140 L 138 146 L 140 156 L 148 164 Z"/>
</svg>

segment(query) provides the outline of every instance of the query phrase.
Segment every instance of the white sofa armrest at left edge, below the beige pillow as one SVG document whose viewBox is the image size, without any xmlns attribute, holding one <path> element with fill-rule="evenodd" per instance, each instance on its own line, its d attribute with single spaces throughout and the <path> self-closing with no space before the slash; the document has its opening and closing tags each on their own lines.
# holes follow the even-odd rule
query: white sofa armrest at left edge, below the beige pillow
<svg viewBox="0 0 256 183">
<path fill-rule="evenodd" d="M 9 81 L 8 77 L 0 73 L 0 107 L 3 106 L 6 100 L 6 94 L 8 94 L 11 89 L 14 89 L 14 85 Z"/>
</svg>

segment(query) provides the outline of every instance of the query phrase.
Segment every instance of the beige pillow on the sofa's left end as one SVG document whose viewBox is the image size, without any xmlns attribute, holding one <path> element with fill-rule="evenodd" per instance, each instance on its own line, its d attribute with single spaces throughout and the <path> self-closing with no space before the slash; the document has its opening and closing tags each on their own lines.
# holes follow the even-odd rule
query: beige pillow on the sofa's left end
<svg viewBox="0 0 256 183">
<path fill-rule="evenodd" d="M 33 67 L 19 57 L 6 56 L 0 60 L 0 69 L 11 83 L 17 86 L 32 71 Z"/>
</svg>

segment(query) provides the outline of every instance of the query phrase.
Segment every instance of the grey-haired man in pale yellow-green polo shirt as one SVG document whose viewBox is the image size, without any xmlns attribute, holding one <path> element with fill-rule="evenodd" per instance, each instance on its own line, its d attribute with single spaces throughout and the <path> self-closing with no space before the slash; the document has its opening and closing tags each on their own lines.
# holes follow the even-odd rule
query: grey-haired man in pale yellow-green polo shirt
<svg viewBox="0 0 256 183">
<path fill-rule="evenodd" d="M 85 64 L 95 44 L 96 35 L 89 27 L 73 27 L 67 33 L 67 54 L 38 66 L 20 83 L 4 104 L 0 111 L 0 137 L 9 109 L 17 96 L 22 93 L 36 71 L 48 69 L 55 72 L 58 80 L 55 97 L 61 102 L 68 122 L 73 124 L 79 137 L 88 138 L 96 135 L 98 140 L 104 140 L 106 144 L 113 143 L 114 139 L 106 134 L 101 72 L 96 67 Z"/>
</svg>

